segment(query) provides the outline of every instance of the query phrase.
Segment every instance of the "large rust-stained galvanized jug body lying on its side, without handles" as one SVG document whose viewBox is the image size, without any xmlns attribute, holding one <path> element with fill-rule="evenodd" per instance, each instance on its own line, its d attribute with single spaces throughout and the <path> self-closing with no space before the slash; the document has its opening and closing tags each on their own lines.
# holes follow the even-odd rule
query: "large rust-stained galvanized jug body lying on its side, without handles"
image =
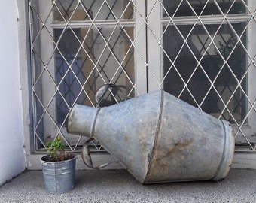
<svg viewBox="0 0 256 203">
<path fill-rule="evenodd" d="M 141 183 L 218 181 L 233 161 L 229 123 L 163 90 L 105 108 L 75 105 L 68 132 L 96 138 Z"/>
</svg>

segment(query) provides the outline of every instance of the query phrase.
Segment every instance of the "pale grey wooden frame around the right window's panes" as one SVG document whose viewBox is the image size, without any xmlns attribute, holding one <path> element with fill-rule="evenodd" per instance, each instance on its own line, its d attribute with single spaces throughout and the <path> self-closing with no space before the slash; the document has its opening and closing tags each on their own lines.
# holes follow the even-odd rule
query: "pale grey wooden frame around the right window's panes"
<svg viewBox="0 0 256 203">
<path fill-rule="evenodd" d="M 253 10 L 255 9 L 255 5 L 253 5 L 253 2 L 251 0 L 248 1 L 248 8 Z M 249 11 L 251 11 L 249 10 Z M 148 1 L 148 11 L 150 11 L 150 15 L 148 16 L 148 25 L 151 29 L 151 32 L 154 32 L 154 35 L 148 35 L 148 41 L 155 41 L 155 39 L 159 39 L 159 41 L 162 41 L 162 44 L 158 44 L 159 46 L 157 49 L 155 48 L 157 46 L 157 43 L 154 43 L 152 46 L 148 45 L 148 50 L 157 50 L 154 52 L 160 52 L 158 54 L 154 54 L 149 52 L 148 57 L 152 58 L 154 55 L 154 60 L 152 62 L 148 62 L 148 68 L 151 69 L 151 72 L 154 73 L 156 77 L 148 78 L 148 83 L 152 80 L 152 84 L 154 85 L 148 85 L 150 86 L 150 91 L 153 91 L 154 89 L 163 88 L 163 84 L 160 83 L 160 81 L 163 80 L 163 38 L 161 37 L 163 35 L 162 27 L 163 26 L 178 26 L 178 25 L 195 25 L 200 24 L 201 26 L 205 26 L 206 24 L 233 24 L 233 23 L 242 23 L 242 22 L 248 22 L 248 20 L 251 20 L 253 17 L 251 17 L 250 14 L 229 14 L 226 15 L 224 18 L 223 15 L 211 15 L 211 16 L 184 16 L 184 17 L 163 17 L 163 2 L 151 2 Z M 254 10 L 253 10 L 254 11 Z M 254 23 L 255 24 L 255 23 Z M 158 25 L 158 26 L 157 26 Z M 159 26 L 160 25 L 160 26 Z M 256 31 L 256 26 L 254 28 L 251 28 L 251 26 L 248 26 L 245 32 L 247 32 L 247 52 L 248 53 L 256 53 L 256 49 L 253 46 L 253 44 L 256 43 L 255 38 L 253 37 L 253 33 Z M 249 54 L 250 56 L 253 54 Z M 159 56 L 159 57 L 157 57 Z M 247 60 L 246 60 L 246 70 L 248 68 L 248 61 L 254 61 L 253 59 L 248 60 L 248 54 L 247 54 Z M 156 71 L 158 71 L 159 64 L 161 64 L 161 72 L 160 74 L 155 74 Z M 255 67 L 255 64 L 253 65 Z M 250 68 L 248 70 L 247 77 L 247 88 L 245 91 L 247 91 L 246 95 L 248 95 L 248 98 L 256 98 L 256 92 L 253 91 L 253 87 L 256 86 L 255 80 L 253 79 L 253 76 L 256 75 L 256 71 L 254 71 L 254 68 Z M 157 80 L 157 83 L 155 82 Z M 248 100 L 246 100 L 248 102 Z M 256 108 L 253 108 L 254 111 L 256 111 Z M 252 111 L 253 111 L 252 109 Z M 248 111 L 248 109 L 246 110 Z M 249 114 L 248 115 L 248 123 L 245 123 L 244 125 L 232 125 L 233 132 L 236 132 L 236 142 L 244 142 L 244 139 L 250 139 L 251 136 L 254 136 L 254 133 L 256 132 L 256 124 L 254 123 L 254 120 L 256 120 L 256 114 Z"/>
</svg>

